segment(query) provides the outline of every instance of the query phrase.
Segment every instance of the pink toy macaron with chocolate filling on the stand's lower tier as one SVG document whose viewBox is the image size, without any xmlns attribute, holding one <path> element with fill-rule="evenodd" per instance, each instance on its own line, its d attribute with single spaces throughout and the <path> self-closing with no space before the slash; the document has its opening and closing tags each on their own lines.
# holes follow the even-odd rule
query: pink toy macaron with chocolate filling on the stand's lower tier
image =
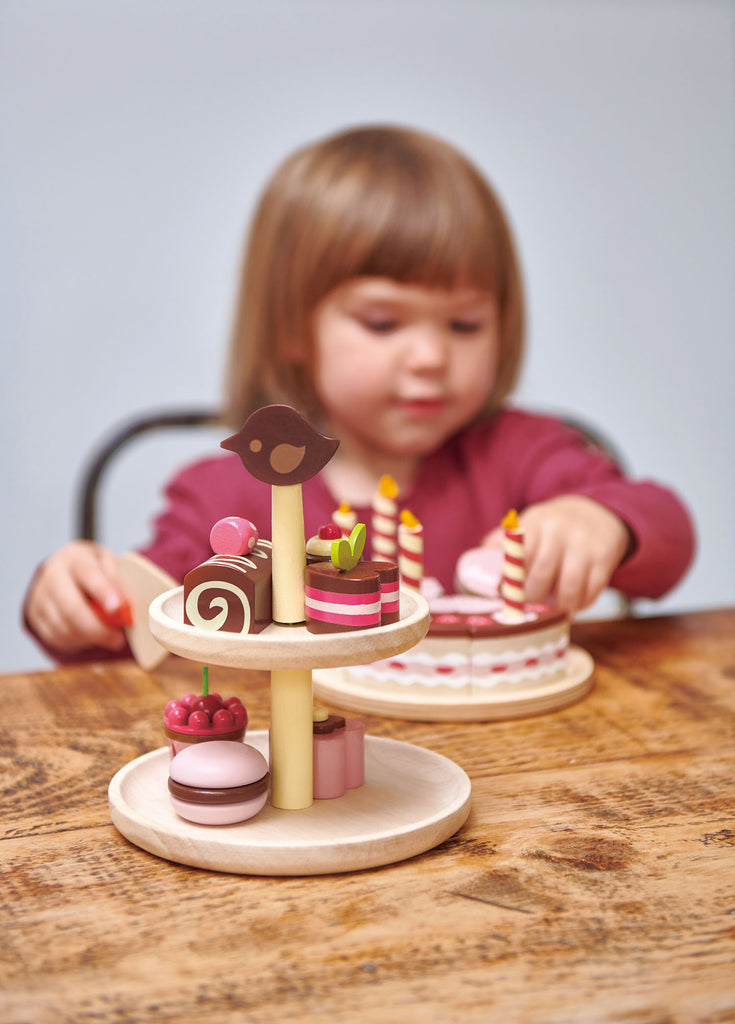
<svg viewBox="0 0 735 1024">
<path fill-rule="evenodd" d="M 249 743 L 213 739 L 181 751 L 169 766 L 171 805 L 187 821 L 228 825 L 265 806 L 270 773 Z"/>
</svg>

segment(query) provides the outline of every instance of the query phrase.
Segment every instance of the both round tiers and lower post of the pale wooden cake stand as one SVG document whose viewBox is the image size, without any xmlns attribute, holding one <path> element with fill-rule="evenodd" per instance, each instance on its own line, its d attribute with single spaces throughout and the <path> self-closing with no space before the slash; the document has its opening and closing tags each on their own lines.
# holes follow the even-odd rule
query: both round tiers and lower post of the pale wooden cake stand
<svg viewBox="0 0 735 1024">
<path fill-rule="evenodd" d="M 303 774 L 311 788 L 312 670 L 362 665 L 407 650 L 426 634 L 429 608 L 407 590 L 401 590 L 400 604 L 399 622 L 379 629 L 312 634 L 304 626 L 271 624 L 243 637 L 185 626 L 181 587 L 157 598 L 150 629 L 172 653 L 271 673 L 270 743 L 264 731 L 246 734 L 246 742 L 266 760 L 270 753 L 271 802 L 241 824 L 185 821 L 170 805 L 169 754 L 162 749 L 113 778 L 109 799 L 118 830 L 141 849 L 177 863 L 271 876 L 395 863 L 452 836 L 469 814 L 470 780 L 452 761 L 410 743 L 366 736 L 362 786 L 336 800 L 311 803 L 310 792 L 308 801 L 299 797 Z M 307 716 L 308 749 L 302 741 Z"/>
</svg>

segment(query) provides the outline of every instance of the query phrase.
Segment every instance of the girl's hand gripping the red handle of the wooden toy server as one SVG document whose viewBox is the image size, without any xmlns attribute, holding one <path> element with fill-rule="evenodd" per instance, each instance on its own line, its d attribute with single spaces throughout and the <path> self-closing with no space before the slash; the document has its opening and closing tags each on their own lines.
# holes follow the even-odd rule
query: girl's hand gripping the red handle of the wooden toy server
<svg viewBox="0 0 735 1024">
<path fill-rule="evenodd" d="M 121 650 L 125 633 L 105 626 L 90 600 L 109 614 L 123 608 L 125 596 L 117 558 L 92 541 L 72 541 L 39 569 L 26 602 L 26 615 L 39 639 L 55 650 Z"/>
</svg>

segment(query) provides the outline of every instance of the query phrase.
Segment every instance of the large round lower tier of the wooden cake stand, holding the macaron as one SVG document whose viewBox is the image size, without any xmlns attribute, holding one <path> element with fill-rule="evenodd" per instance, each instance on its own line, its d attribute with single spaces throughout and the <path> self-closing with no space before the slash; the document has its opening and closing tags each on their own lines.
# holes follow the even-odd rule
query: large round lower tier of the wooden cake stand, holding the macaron
<svg viewBox="0 0 735 1024">
<path fill-rule="evenodd" d="M 268 756 L 268 734 L 246 741 Z M 470 813 L 470 780 L 423 746 L 365 736 L 365 782 L 300 811 L 267 804 L 250 821 L 198 825 L 168 796 L 169 753 L 153 751 L 122 768 L 109 790 L 115 827 L 166 860 L 236 874 L 329 874 L 392 864 L 433 849 Z"/>
</svg>

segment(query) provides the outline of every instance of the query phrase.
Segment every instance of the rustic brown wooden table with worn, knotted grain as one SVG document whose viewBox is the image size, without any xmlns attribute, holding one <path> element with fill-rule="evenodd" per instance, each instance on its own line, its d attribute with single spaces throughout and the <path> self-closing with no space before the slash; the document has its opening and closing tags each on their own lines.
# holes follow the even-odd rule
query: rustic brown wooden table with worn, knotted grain
<svg viewBox="0 0 735 1024">
<path fill-rule="evenodd" d="M 573 639 L 596 687 L 564 711 L 369 719 L 458 762 L 470 818 L 306 879 L 172 864 L 111 824 L 111 777 L 197 666 L 3 677 L 0 1021 L 735 1020 L 735 609 Z M 264 673 L 214 677 L 267 726 Z"/>
</svg>

